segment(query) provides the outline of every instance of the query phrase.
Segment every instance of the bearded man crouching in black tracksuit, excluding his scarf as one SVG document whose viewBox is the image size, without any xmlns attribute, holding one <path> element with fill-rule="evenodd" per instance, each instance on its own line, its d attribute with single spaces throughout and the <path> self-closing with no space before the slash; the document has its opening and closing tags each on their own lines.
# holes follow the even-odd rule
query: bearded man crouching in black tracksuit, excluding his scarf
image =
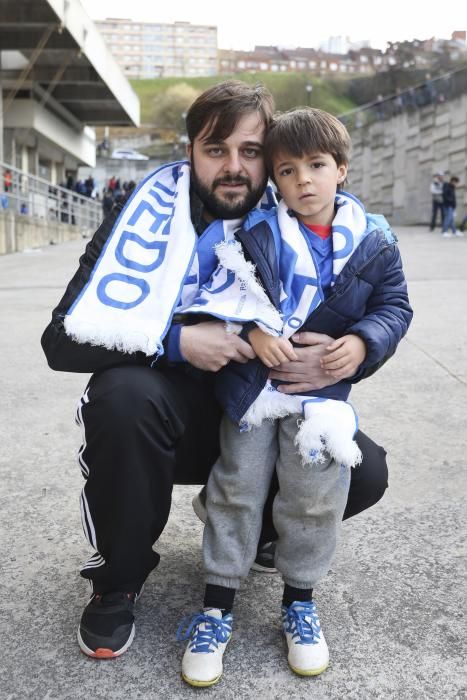
<svg viewBox="0 0 467 700">
<path fill-rule="evenodd" d="M 262 144 L 273 111 L 266 89 L 238 81 L 206 90 L 188 111 L 190 209 L 200 245 L 211 222 L 215 226 L 216 219 L 239 219 L 261 198 L 267 179 Z M 137 196 L 138 192 L 132 206 Z M 220 410 L 213 395 L 214 373 L 230 360 L 254 357 L 247 342 L 217 321 L 172 321 L 163 341 L 165 354 L 160 357 L 159 352 L 157 361 L 141 351 L 130 354 L 77 343 L 67 334 L 66 318 L 82 302 L 98 267 L 101 270 L 100 256 L 106 254 L 114 224 L 118 227 L 118 217 L 125 213 L 122 206 L 87 245 L 42 337 L 52 369 L 94 373 L 77 413 L 83 429 L 79 462 L 86 478 L 82 519 L 95 550 L 81 571 L 91 581 L 93 594 L 81 618 L 78 641 L 84 653 L 96 658 L 119 656 L 133 640 L 134 603 L 159 562 L 152 546 L 167 522 L 173 484 L 205 484 L 218 456 Z M 124 258 L 123 250 L 119 254 Z M 334 383 L 320 367 L 329 337 L 301 333 L 299 342 L 303 347 L 297 348 L 298 361 L 284 363 L 271 375 L 289 382 L 283 391 L 297 393 Z M 373 505 L 387 485 L 384 450 L 363 433 L 357 441 L 364 459 L 352 478 L 345 517 Z M 265 508 L 260 548 L 274 537 L 274 488 L 277 485 Z"/>
</svg>

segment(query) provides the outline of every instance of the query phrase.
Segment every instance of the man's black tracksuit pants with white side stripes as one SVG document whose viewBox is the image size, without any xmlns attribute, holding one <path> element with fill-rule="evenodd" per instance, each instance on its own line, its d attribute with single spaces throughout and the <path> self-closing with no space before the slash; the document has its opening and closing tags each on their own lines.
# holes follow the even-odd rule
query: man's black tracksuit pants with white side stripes
<svg viewBox="0 0 467 700">
<path fill-rule="evenodd" d="M 96 553 L 81 575 L 94 591 L 137 590 L 158 564 L 153 545 L 169 517 L 174 484 L 205 484 L 219 454 L 213 375 L 121 366 L 93 375 L 77 412 L 86 483 L 83 527 Z M 387 486 L 385 451 L 359 432 L 345 517 L 376 503 Z M 261 541 L 275 539 L 272 501 Z"/>
</svg>

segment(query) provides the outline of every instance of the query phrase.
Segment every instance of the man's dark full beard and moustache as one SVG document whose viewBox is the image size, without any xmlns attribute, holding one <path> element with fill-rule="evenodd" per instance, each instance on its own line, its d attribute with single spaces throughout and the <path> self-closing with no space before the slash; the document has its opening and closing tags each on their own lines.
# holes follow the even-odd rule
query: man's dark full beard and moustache
<svg viewBox="0 0 467 700">
<path fill-rule="evenodd" d="M 268 178 L 264 176 L 257 187 L 253 187 L 249 177 L 243 175 L 225 175 L 214 180 L 210 187 L 205 185 L 196 174 L 195 163 L 191 161 L 191 186 L 201 199 L 204 207 L 215 219 L 240 219 L 246 216 L 261 199 L 266 188 Z M 220 184 L 245 185 L 246 194 L 239 199 L 235 192 L 226 192 L 225 199 L 220 199 L 216 195 L 216 188 Z M 231 201 L 229 201 L 229 197 Z"/>
</svg>

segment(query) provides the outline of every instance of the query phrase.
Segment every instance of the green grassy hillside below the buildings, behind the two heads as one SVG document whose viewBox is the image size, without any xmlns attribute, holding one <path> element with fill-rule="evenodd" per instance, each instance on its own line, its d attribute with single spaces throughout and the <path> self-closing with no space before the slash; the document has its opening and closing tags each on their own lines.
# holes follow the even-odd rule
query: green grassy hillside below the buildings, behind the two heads
<svg viewBox="0 0 467 700">
<path fill-rule="evenodd" d="M 341 114 L 356 106 L 346 96 L 348 84 L 345 79 L 318 78 L 306 73 L 240 73 L 235 76 L 222 75 L 208 78 L 132 80 L 132 87 L 141 101 L 141 123 L 151 123 L 154 101 L 172 85 L 186 83 L 202 92 L 207 87 L 230 77 L 247 83 L 263 83 L 271 90 L 277 108 L 281 111 L 310 104 L 332 114 Z M 311 92 L 307 92 L 307 85 L 312 86 Z"/>
</svg>

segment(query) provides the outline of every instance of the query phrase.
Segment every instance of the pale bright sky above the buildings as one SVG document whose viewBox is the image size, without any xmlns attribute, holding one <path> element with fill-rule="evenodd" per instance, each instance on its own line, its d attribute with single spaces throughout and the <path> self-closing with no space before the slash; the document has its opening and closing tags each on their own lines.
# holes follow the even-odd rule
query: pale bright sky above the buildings
<svg viewBox="0 0 467 700">
<path fill-rule="evenodd" d="M 217 25 L 221 49 L 318 48 L 330 36 L 366 39 L 373 48 L 385 49 L 387 41 L 449 39 L 453 31 L 467 30 L 467 0 L 450 0 L 445 9 L 437 3 L 437 10 L 430 9 L 434 3 L 427 0 L 81 0 L 81 4 L 92 19 Z"/>
</svg>

